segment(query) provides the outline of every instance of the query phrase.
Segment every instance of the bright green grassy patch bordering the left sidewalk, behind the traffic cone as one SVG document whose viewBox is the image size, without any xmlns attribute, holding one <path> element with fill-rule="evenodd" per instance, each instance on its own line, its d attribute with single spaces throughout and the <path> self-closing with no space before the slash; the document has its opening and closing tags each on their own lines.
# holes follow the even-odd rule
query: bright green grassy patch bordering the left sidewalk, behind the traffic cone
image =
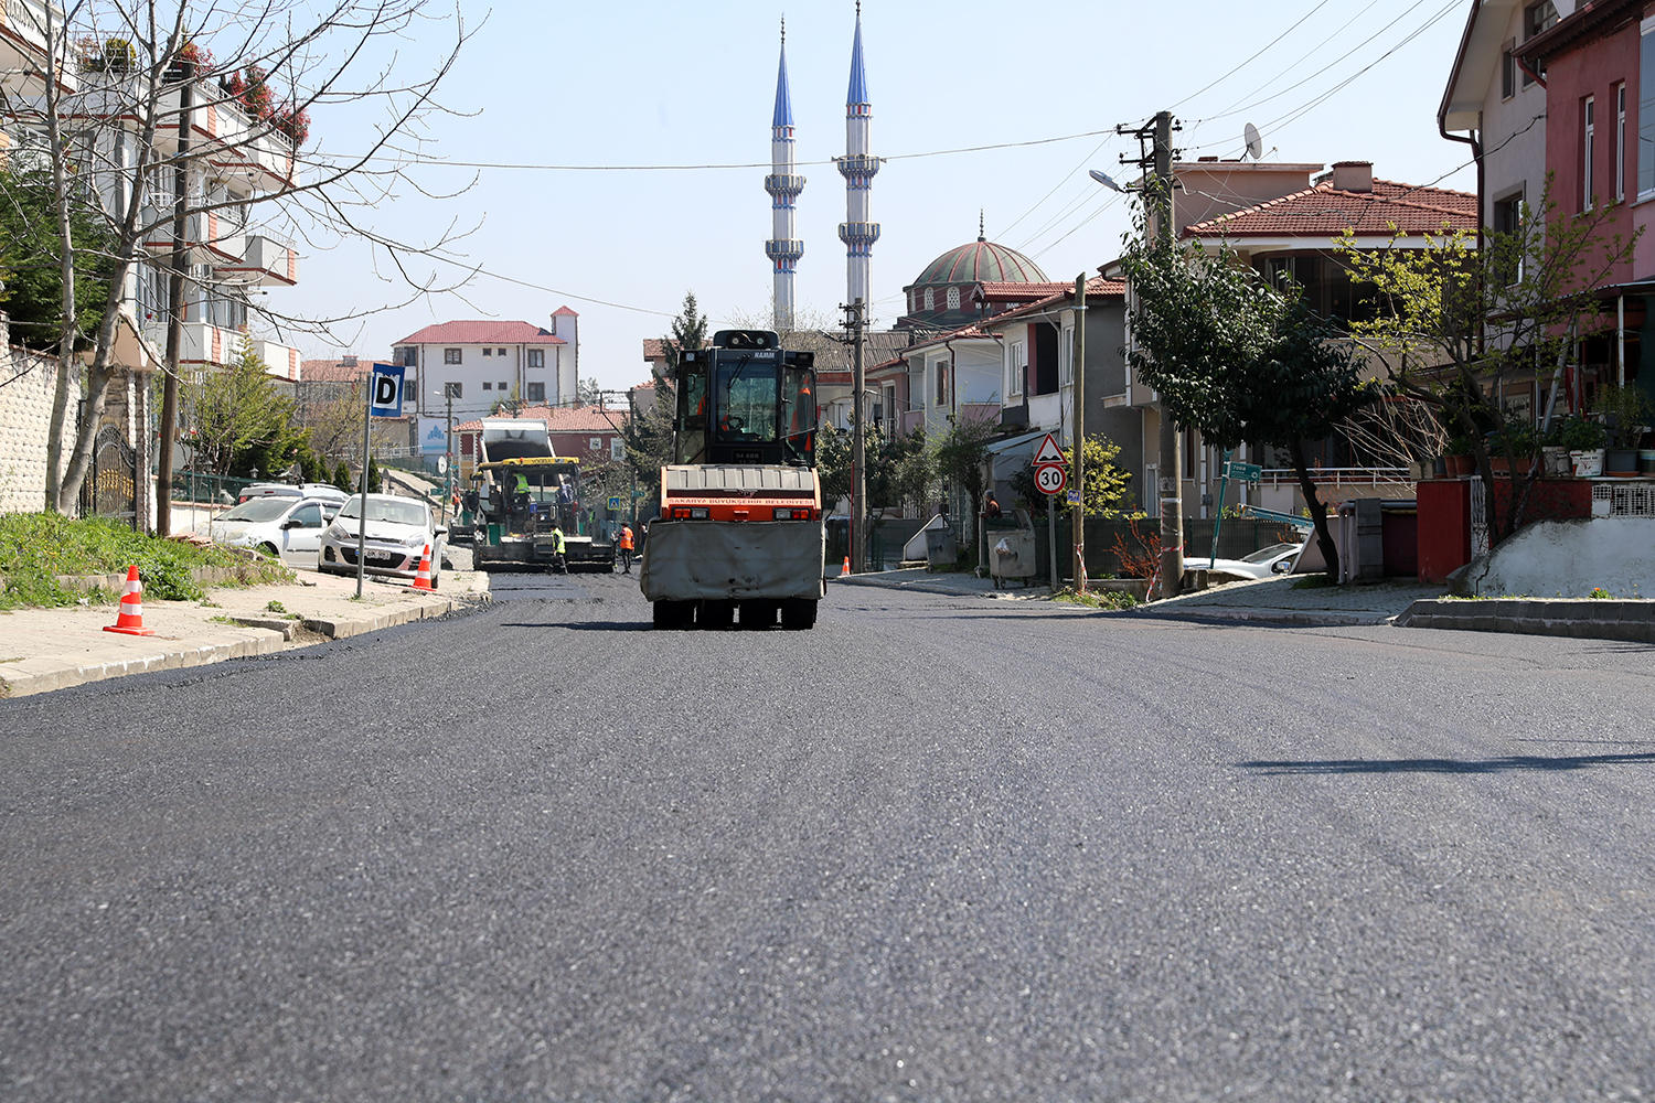
<svg viewBox="0 0 1655 1103">
<path fill-rule="evenodd" d="M 0 514 L 0 609 L 74 605 L 113 600 L 108 590 L 76 590 L 58 575 L 113 574 L 137 564 L 144 594 L 161 600 L 200 600 L 195 567 L 227 567 L 247 584 L 290 577 L 280 561 L 255 561 L 225 547 L 197 547 L 134 532 L 119 521 L 76 521 L 55 513 Z"/>
</svg>

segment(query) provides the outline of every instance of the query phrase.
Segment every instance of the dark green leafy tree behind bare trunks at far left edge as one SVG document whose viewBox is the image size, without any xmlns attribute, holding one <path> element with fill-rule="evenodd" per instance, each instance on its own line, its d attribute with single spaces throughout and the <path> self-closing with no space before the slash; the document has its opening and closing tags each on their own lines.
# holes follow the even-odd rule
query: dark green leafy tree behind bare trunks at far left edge
<svg viewBox="0 0 1655 1103">
<path fill-rule="evenodd" d="M 58 250 L 58 212 L 51 174 L 0 169 L 0 278 L 5 279 L 5 309 L 12 341 L 30 349 L 51 351 L 63 339 L 63 265 Z M 70 202 L 74 240 L 74 351 L 89 347 L 106 309 L 103 291 L 114 263 L 111 236 L 84 195 Z"/>
</svg>

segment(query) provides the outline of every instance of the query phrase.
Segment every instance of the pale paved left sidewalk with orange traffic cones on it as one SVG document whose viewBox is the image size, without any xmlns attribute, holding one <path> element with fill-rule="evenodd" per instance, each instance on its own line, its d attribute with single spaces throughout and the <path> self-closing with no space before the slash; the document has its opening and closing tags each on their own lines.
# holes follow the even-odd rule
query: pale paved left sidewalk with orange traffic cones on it
<svg viewBox="0 0 1655 1103">
<path fill-rule="evenodd" d="M 399 579 L 356 579 L 296 571 L 275 585 L 218 585 L 204 602 L 144 597 L 144 627 L 156 635 L 104 632 L 116 605 L 0 612 L 0 696 L 23 696 L 142 673 L 270 655 L 341 640 L 410 620 L 442 617 L 488 600 L 488 575 L 444 571 L 442 589 L 414 590 Z M 276 602 L 281 610 L 271 610 Z"/>
</svg>

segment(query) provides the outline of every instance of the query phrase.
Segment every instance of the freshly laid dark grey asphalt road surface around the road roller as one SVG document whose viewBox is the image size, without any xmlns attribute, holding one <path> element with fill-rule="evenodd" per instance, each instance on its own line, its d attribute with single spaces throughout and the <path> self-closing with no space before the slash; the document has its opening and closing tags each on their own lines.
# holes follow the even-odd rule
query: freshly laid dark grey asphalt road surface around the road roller
<svg viewBox="0 0 1655 1103">
<path fill-rule="evenodd" d="M 631 579 L 0 701 L 0 1098 L 1640 1100 L 1647 647 Z"/>
</svg>

